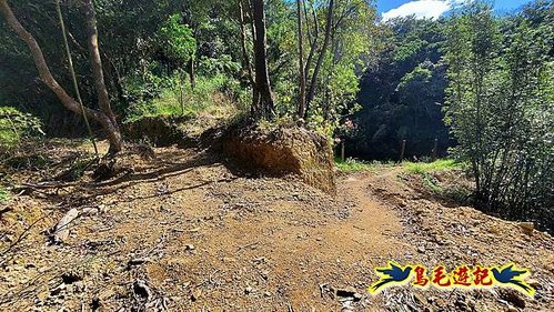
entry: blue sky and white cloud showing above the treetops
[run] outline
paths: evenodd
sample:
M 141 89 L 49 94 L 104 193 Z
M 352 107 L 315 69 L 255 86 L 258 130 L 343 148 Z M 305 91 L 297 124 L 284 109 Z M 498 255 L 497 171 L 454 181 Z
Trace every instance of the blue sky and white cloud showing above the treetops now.
M 410 14 L 437 18 L 453 7 L 467 1 L 471 0 L 377 0 L 377 11 L 384 20 Z M 496 0 L 494 10 L 497 13 L 506 13 L 532 0 Z

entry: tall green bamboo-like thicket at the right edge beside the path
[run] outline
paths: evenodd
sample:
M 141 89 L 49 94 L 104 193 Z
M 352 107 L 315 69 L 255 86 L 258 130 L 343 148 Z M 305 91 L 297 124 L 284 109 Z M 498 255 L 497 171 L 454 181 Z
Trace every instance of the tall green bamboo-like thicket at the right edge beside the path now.
M 480 3 L 449 24 L 446 121 L 460 142 L 454 153 L 471 164 L 483 209 L 552 220 L 554 62 L 548 51 L 554 41 L 526 19 L 515 19 L 504 31 L 503 37 L 498 20 Z

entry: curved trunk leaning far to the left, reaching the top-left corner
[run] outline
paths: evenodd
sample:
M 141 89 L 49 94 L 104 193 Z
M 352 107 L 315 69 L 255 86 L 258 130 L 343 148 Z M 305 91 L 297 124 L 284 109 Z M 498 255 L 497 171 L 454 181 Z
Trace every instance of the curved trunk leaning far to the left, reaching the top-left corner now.
M 18 18 L 16 17 L 16 14 L 13 14 L 13 11 L 11 10 L 7 0 L 0 0 L 0 12 L 4 16 L 8 24 L 13 30 L 13 32 L 16 32 L 16 34 L 29 48 L 34 66 L 37 67 L 37 70 L 39 72 L 39 77 L 44 82 L 44 84 L 50 90 L 52 90 L 52 92 L 58 97 L 60 102 L 68 110 L 77 114 L 82 114 L 84 111 L 88 118 L 100 123 L 108 133 L 108 139 L 110 140 L 110 151 L 111 152 L 120 151 L 122 147 L 121 134 L 119 132 L 118 124 L 114 123 L 115 122 L 114 119 L 111 119 L 103 111 L 98 111 L 90 108 L 84 108 L 83 110 L 81 110 L 81 105 L 79 104 L 79 102 L 75 101 L 71 95 L 69 95 L 68 92 L 53 78 L 52 73 L 50 72 L 50 68 L 48 67 L 48 63 L 44 59 L 44 54 L 40 49 L 39 43 L 34 39 L 34 37 L 29 31 L 27 31 L 23 28 L 23 26 L 19 22 Z

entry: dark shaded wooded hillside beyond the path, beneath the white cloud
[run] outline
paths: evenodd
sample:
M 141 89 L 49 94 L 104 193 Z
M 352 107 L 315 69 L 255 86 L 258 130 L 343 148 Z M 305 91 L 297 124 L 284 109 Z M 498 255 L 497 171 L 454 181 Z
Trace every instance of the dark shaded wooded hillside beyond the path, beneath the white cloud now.
M 440 154 L 446 154 L 453 142 L 442 120 L 446 88 L 440 50 L 443 27 L 441 20 L 409 17 L 373 30 L 357 93 L 363 109 L 353 118 L 359 129 L 346 144 L 347 153 L 397 159 L 401 142 L 406 140 L 406 157 L 421 159 L 431 155 L 439 139 Z

